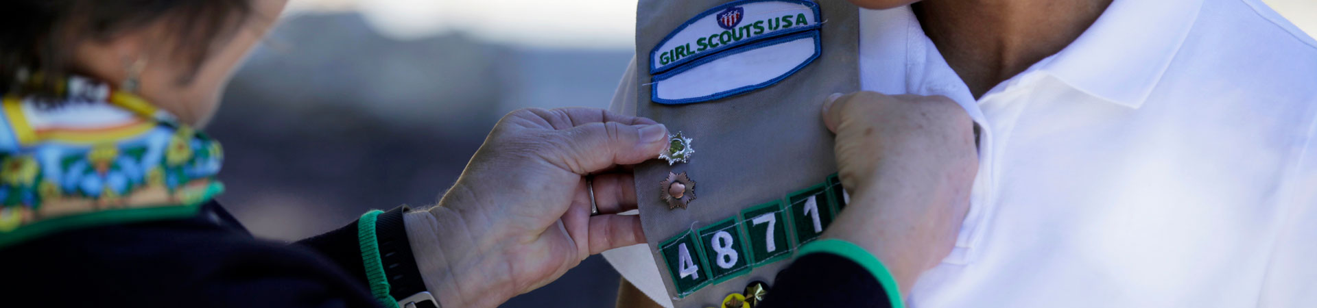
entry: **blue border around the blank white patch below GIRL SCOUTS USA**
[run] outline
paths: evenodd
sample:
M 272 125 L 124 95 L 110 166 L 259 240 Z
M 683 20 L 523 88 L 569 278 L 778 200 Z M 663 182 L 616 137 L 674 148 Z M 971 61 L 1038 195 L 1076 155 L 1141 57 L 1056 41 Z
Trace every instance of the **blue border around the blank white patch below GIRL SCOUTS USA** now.
M 809 59 L 805 59 L 805 62 L 801 62 L 801 64 L 795 66 L 795 68 L 792 68 L 790 71 L 788 71 L 786 74 L 782 74 L 781 76 L 769 79 L 768 82 L 763 82 L 763 83 L 759 83 L 759 84 L 744 86 L 744 87 L 739 87 L 739 88 L 734 88 L 734 90 L 728 90 L 728 91 L 723 91 L 723 92 L 718 92 L 718 93 L 712 93 L 712 95 L 699 96 L 699 97 L 680 99 L 680 100 L 658 99 L 658 82 L 666 80 L 668 78 L 672 78 L 672 76 L 674 76 L 677 74 L 685 72 L 685 71 L 687 71 L 690 68 L 699 67 L 701 64 L 709 63 L 709 62 L 715 61 L 715 59 L 726 58 L 728 55 L 735 55 L 735 54 L 745 53 L 745 51 L 749 51 L 749 50 L 765 47 L 765 46 L 769 46 L 769 45 L 778 45 L 778 43 L 789 42 L 789 41 L 794 41 L 794 39 L 799 39 L 799 38 L 806 38 L 806 37 L 813 37 L 814 38 L 814 55 L 810 55 Z M 664 105 L 682 105 L 682 104 L 693 104 L 693 103 L 702 103 L 702 101 L 710 101 L 710 100 L 723 99 L 723 97 L 735 96 L 735 95 L 751 92 L 751 91 L 755 91 L 755 90 L 765 88 L 768 86 L 773 86 L 773 84 L 781 82 L 782 79 L 786 79 L 788 76 L 795 75 L 795 72 L 799 71 L 801 68 L 805 68 L 805 66 L 809 66 L 810 63 L 814 63 L 814 61 L 818 59 L 819 55 L 823 54 L 822 39 L 823 39 L 823 37 L 819 36 L 819 30 L 815 29 L 813 32 L 797 33 L 797 34 L 790 34 L 790 36 L 781 36 L 781 37 L 776 37 L 776 38 L 770 38 L 770 39 L 761 39 L 761 41 L 757 41 L 757 42 L 751 43 L 751 45 L 738 46 L 735 49 L 724 50 L 724 51 L 720 51 L 720 53 L 716 53 L 716 54 L 711 54 L 709 57 L 699 58 L 699 61 L 697 61 L 694 63 L 689 63 L 689 64 L 685 64 L 682 67 L 677 67 L 674 70 L 670 70 L 670 71 L 660 74 L 660 75 L 655 75 L 653 79 L 649 83 L 649 100 L 653 101 L 653 103 L 657 103 L 657 104 L 664 104 Z

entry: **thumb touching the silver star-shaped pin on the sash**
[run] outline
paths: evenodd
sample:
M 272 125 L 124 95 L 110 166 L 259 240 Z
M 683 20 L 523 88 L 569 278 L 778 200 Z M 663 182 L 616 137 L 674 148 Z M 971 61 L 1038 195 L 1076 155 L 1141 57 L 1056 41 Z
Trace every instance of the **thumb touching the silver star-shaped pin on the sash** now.
M 657 158 L 668 145 L 662 124 L 591 122 L 558 132 L 566 140 L 554 149 L 561 167 L 582 175 Z

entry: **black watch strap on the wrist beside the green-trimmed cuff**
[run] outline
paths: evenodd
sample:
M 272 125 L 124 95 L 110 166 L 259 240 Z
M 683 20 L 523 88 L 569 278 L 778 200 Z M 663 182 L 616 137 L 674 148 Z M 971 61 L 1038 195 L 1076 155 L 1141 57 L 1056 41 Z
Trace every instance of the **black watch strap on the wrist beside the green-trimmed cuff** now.
M 407 241 L 403 213 L 408 211 L 411 209 L 407 205 L 402 205 L 383 212 L 375 218 L 375 240 L 379 242 L 379 261 L 385 267 L 385 276 L 389 279 L 389 295 L 399 301 L 427 292 L 425 282 L 421 280 L 420 269 L 416 266 L 416 257 L 412 254 L 411 242 Z M 399 303 L 399 305 L 402 304 L 406 303 Z M 427 308 L 437 307 L 439 303 L 419 300 L 411 305 Z

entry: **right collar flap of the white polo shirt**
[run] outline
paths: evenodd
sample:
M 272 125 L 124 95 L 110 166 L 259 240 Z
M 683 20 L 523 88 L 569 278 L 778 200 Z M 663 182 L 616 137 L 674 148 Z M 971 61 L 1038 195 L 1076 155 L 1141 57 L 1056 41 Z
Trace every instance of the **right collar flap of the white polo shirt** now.
M 1202 0 L 1115 0 L 1039 71 L 1104 100 L 1139 108 L 1169 67 Z

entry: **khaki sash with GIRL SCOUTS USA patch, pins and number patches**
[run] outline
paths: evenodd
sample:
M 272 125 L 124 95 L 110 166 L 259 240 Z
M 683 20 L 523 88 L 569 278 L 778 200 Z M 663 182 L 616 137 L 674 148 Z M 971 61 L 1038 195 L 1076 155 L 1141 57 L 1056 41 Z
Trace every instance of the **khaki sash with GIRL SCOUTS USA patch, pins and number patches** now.
M 857 32 L 857 9 L 843 0 L 640 0 L 636 115 L 694 150 L 687 162 L 635 170 L 645 237 L 676 307 L 719 307 L 752 282 L 772 283 L 840 212 L 820 109 L 828 95 L 859 90 Z M 685 208 L 664 199 L 669 172 L 689 178 Z

